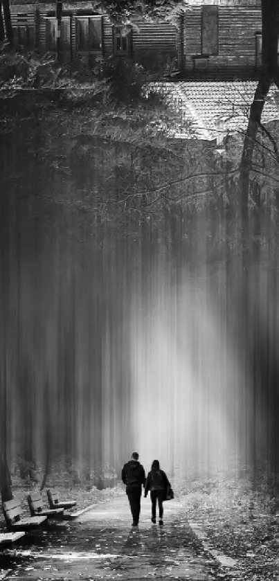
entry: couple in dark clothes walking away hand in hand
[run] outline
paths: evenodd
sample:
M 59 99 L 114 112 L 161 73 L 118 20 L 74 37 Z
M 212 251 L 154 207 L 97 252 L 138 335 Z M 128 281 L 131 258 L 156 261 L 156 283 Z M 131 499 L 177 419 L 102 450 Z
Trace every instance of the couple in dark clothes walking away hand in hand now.
M 126 485 L 126 494 L 131 507 L 133 524 L 138 526 L 139 515 L 141 512 L 141 490 L 142 485 L 145 488 L 145 498 L 148 490 L 152 502 L 152 523 L 156 523 L 156 503 L 159 505 L 159 524 L 163 524 L 163 501 L 165 500 L 167 490 L 171 488 L 168 477 L 160 470 L 158 460 L 152 462 L 150 472 L 145 479 L 145 470 L 143 465 L 138 462 L 138 453 L 133 452 L 131 460 L 127 462 L 122 469 L 122 480 Z

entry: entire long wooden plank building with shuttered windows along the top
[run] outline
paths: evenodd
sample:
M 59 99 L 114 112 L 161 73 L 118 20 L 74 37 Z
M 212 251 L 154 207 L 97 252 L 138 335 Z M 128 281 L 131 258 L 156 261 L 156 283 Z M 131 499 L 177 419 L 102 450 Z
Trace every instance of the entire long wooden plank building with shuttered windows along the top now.
M 11 0 L 15 46 L 56 50 L 55 2 Z M 255 73 L 261 64 L 260 0 L 188 0 L 174 24 L 137 19 L 116 26 L 90 1 L 64 1 L 62 57 L 90 64 L 96 55 L 129 57 L 185 77 Z

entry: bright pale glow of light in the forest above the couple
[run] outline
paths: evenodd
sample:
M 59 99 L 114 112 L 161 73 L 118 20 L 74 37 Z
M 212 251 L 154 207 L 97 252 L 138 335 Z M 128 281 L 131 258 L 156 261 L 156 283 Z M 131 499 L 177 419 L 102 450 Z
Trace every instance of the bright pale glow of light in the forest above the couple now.
M 200 283 L 172 285 L 163 271 L 134 298 L 129 357 L 134 443 L 175 476 L 227 470 L 246 459 L 249 384 L 213 298 Z M 245 419 L 244 419 L 245 418 Z M 246 422 L 243 429 L 243 422 Z

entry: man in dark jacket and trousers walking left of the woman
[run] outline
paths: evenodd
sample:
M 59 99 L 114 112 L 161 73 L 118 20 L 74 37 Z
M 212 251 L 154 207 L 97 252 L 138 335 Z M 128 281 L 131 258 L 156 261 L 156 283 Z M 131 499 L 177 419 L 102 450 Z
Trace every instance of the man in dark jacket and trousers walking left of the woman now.
M 141 487 L 145 485 L 145 471 L 138 462 L 138 452 L 133 452 L 131 460 L 123 466 L 121 477 L 126 485 L 126 494 L 131 507 L 132 526 L 138 526 L 141 512 Z

